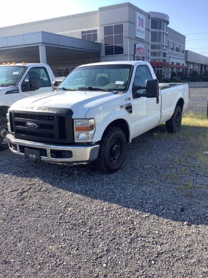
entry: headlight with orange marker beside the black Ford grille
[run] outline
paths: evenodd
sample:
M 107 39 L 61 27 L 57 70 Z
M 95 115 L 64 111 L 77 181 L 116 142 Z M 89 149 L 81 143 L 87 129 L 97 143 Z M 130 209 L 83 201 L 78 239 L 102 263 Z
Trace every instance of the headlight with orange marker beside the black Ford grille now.
M 91 142 L 95 131 L 94 119 L 74 120 L 75 142 Z

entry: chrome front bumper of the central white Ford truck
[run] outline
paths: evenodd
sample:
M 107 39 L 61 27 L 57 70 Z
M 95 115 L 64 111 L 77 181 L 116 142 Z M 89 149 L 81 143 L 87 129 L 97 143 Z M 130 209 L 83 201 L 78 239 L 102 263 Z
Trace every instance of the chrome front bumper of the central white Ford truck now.
M 43 144 L 20 140 L 12 134 L 7 134 L 7 141 L 10 150 L 15 154 L 31 160 L 58 164 L 86 164 L 95 160 L 99 151 L 98 144 L 74 146 Z

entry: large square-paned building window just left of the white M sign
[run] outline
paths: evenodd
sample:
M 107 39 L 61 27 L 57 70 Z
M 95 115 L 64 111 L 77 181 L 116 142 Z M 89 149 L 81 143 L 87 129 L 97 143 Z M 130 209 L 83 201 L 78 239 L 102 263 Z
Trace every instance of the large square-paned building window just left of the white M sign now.
M 119 55 L 124 53 L 124 26 L 116 24 L 104 27 L 105 54 Z

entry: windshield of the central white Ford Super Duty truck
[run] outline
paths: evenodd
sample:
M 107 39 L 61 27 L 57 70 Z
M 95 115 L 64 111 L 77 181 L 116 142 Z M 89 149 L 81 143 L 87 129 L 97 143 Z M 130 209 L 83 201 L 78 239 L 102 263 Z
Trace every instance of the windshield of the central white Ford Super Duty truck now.
M 132 65 L 96 65 L 73 70 L 58 89 L 126 90 Z

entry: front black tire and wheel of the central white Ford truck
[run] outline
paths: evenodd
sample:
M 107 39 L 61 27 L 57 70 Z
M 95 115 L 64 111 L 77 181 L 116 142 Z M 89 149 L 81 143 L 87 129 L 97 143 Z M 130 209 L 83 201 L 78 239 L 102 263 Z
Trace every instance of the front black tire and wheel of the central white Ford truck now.
M 99 142 L 96 169 L 109 174 L 118 171 L 125 159 L 126 145 L 126 137 L 121 128 L 107 127 Z

